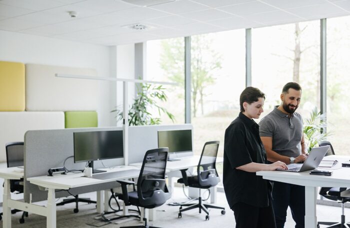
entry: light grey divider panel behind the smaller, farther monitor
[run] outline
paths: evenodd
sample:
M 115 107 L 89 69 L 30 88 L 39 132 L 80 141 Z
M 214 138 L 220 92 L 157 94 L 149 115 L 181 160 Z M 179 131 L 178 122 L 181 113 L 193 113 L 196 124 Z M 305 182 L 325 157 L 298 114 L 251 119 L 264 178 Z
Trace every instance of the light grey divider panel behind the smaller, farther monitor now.
M 147 150 L 158 148 L 159 130 L 192 130 L 193 149 L 193 126 L 191 124 L 180 125 L 146 125 L 129 127 L 129 164 L 142 162 Z M 177 156 L 190 156 L 193 152 L 178 153 Z M 169 154 L 172 157 L 172 154 Z

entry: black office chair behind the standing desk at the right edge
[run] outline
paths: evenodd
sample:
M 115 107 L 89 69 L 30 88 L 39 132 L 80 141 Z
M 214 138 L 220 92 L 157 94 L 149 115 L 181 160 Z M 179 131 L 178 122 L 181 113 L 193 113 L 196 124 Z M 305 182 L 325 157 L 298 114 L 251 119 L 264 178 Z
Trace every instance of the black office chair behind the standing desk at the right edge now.
M 319 142 L 319 146 L 330 146 L 330 151 L 327 151 L 326 156 L 335 154 L 330 142 L 328 141 Z M 350 198 L 340 196 L 341 192 L 345 190 L 346 190 L 346 187 L 321 187 L 321 189 L 319 190 L 320 195 L 322 195 L 327 199 L 338 201 L 341 203 L 341 217 L 340 217 L 340 222 L 319 221 L 317 222 L 317 227 L 319 227 L 319 225 L 330 225 L 329 227 L 347 227 L 347 228 L 350 227 L 350 223 L 345 222 L 345 215 L 344 215 L 344 203 L 347 201 L 350 201 Z

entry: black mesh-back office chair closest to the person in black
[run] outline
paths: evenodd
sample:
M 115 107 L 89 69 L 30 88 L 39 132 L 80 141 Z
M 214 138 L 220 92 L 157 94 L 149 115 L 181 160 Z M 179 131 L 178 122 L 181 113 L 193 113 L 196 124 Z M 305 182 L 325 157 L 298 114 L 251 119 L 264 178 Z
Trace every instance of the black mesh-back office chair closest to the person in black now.
M 200 196 L 200 189 L 210 188 L 215 186 L 220 178 L 217 175 L 215 162 L 218 149 L 219 141 L 206 142 L 204 144 L 203 150 L 200 155 L 199 163 L 197 165 L 197 175 L 188 176 L 186 174 L 186 169 L 181 170 L 182 178 L 178 179 L 178 183 L 183 183 L 185 186 L 199 188 L 199 198 L 198 203 L 182 203 L 180 205 L 178 217 L 182 217 L 183 211 L 199 208 L 199 213 L 203 210 L 205 215 L 205 220 L 209 220 L 209 211 L 207 208 L 221 209 L 221 214 L 225 214 L 225 208 L 220 206 L 215 206 L 211 204 L 204 204 Z M 182 206 L 188 206 L 182 208 Z

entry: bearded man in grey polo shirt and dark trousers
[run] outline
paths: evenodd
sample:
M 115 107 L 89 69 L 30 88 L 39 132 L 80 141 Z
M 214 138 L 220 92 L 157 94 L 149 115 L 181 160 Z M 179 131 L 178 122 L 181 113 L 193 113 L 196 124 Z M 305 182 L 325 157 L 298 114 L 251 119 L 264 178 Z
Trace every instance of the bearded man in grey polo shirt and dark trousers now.
M 259 133 L 265 147 L 267 160 L 286 164 L 306 159 L 302 118 L 295 110 L 301 100 L 301 87 L 294 82 L 284 85 L 280 95 L 282 103 L 261 119 Z M 304 227 L 305 190 L 303 186 L 273 182 L 272 205 L 277 228 L 283 227 L 286 211 L 290 207 L 295 228 Z

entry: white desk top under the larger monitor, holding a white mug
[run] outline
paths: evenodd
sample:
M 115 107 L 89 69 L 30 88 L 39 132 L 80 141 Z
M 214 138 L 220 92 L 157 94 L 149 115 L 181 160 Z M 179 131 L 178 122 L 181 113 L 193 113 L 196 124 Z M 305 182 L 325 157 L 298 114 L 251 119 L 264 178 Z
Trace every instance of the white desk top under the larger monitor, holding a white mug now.
M 117 171 L 128 170 L 128 169 L 138 169 L 138 168 L 133 166 L 120 166 L 112 169 L 105 168 L 102 170 L 106 170 L 107 172 L 117 172 Z M 127 173 L 125 173 L 125 176 L 123 177 L 100 180 L 100 179 L 84 177 L 83 174 L 79 172 L 79 173 L 67 173 L 65 175 L 59 174 L 54 176 L 29 177 L 27 178 L 27 180 L 32 184 L 36 184 L 38 186 L 42 186 L 46 188 L 69 189 L 73 187 L 105 183 L 105 182 L 110 182 L 117 179 L 119 180 L 127 179 L 127 178 L 132 178 L 137 176 L 134 176 L 134 175 L 130 176 Z

